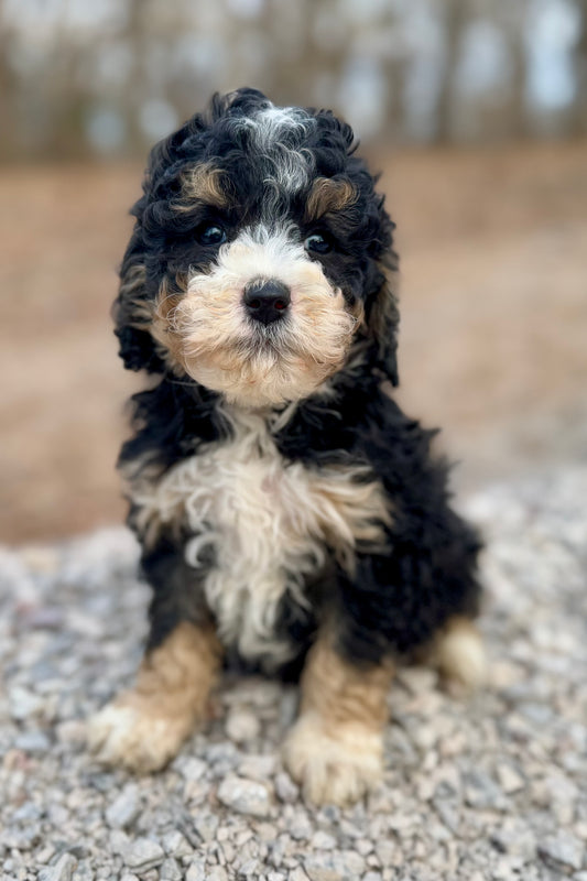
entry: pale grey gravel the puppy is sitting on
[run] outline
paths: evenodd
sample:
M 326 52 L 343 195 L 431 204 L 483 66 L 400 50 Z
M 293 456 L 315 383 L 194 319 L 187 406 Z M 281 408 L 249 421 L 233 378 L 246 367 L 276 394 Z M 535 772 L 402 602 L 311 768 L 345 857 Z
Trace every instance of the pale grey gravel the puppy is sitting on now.
M 161 774 L 96 765 L 84 719 L 140 660 L 146 590 L 123 530 L 0 554 L 0 879 L 587 881 L 587 475 L 490 487 L 488 688 L 427 670 L 390 694 L 367 804 L 307 807 L 278 758 L 296 694 L 228 681 Z M 1 873 L 3 872 L 3 874 Z

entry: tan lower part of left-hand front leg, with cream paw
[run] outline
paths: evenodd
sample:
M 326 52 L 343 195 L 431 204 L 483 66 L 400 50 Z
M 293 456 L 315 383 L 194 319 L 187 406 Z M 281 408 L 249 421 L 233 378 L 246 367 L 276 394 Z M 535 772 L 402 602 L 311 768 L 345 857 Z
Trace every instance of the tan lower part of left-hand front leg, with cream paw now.
M 210 627 L 178 624 L 145 655 L 134 687 L 90 720 L 90 749 L 100 761 L 132 771 L 163 768 L 205 718 L 220 660 Z

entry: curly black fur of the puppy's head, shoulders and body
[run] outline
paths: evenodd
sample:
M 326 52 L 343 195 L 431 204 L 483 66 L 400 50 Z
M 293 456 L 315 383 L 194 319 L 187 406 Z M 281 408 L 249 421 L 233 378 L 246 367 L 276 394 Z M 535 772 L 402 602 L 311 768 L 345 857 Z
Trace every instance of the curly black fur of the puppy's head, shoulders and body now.
M 202 445 L 221 444 L 230 436 L 221 396 L 170 369 L 142 307 L 155 298 L 162 282 L 178 291 L 178 280 L 188 271 L 206 272 L 214 261 L 214 250 L 198 243 L 194 233 L 215 221 L 218 210 L 197 203 L 189 210 L 177 209 L 187 170 L 214 160 L 226 176 L 230 199 L 221 220 L 229 236 L 262 214 L 268 161 L 252 154 L 247 128 L 236 121 L 267 106 L 268 99 L 253 89 L 216 96 L 204 113 L 151 153 L 143 196 L 132 209 L 137 222 L 113 313 L 126 367 L 159 374 L 154 388 L 133 399 L 135 434 L 120 456 L 127 474 L 149 466 L 163 475 L 197 455 Z M 330 393 L 301 401 L 275 432 L 274 443 L 285 467 L 296 461 L 318 469 L 369 465 L 384 487 L 393 522 L 387 527 L 383 552 L 359 543 L 354 577 L 329 550 L 326 569 L 306 585 L 309 610 L 286 595 L 275 630 L 296 646 L 300 661 L 319 622 L 334 614 L 345 656 L 373 663 L 427 642 L 455 613 L 475 614 L 479 541 L 449 508 L 447 467 L 431 456 L 434 433 L 407 418 L 384 388 L 385 381 L 398 381 L 398 312 L 385 282 L 385 270 L 396 265 L 393 224 L 374 192 L 374 178 L 355 155 L 351 129 L 328 111 L 308 113 L 315 126 L 303 148 L 313 156 L 315 175 L 347 180 L 357 194 L 352 205 L 320 224 L 337 247 L 316 259 L 349 304 L 363 304 L 366 319 L 354 360 L 333 378 Z M 313 231 L 304 219 L 306 198 L 304 191 L 280 193 L 273 206 L 302 236 Z M 131 525 L 138 522 L 135 515 L 133 509 Z M 183 557 L 185 537 L 165 533 L 143 555 L 144 574 L 155 591 L 151 648 L 182 618 L 197 621 L 208 614 L 203 572 L 196 578 Z M 206 565 L 214 566 L 214 559 Z

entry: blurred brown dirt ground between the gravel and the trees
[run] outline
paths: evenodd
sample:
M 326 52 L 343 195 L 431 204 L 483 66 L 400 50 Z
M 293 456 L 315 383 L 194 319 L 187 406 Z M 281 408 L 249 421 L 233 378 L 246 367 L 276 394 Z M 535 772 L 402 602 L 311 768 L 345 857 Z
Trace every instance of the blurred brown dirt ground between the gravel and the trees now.
M 402 257 L 400 398 L 459 489 L 587 460 L 587 143 L 373 153 Z M 137 377 L 109 307 L 137 164 L 0 168 L 0 540 L 120 521 Z

